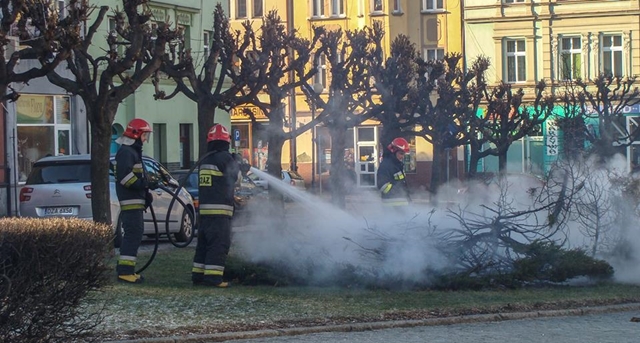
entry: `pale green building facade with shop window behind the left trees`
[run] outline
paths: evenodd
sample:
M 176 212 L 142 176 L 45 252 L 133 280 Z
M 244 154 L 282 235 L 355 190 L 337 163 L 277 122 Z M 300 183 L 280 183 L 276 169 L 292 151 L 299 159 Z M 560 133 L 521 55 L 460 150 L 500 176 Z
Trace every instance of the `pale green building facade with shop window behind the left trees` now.
M 64 15 L 63 3 L 58 1 L 59 10 Z M 120 0 L 105 0 L 94 5 L 107 5 L 112 9 L 122 8 Z M 152 14 L 151 25 L 156 21 L 168 21 L 184 30 L 187 46 L 192 49 L 196 63 L 203 56 L 211 42 L 213 12 L 217 2 L 200 0 L 152 1 L 148 9 Z M 228 2 L 223 2 L 228 10 Z M 88 22 L 93 23 L 98 11 Z M 104 55 L 108 50 L 106 37 L 114 34 L 113 12 L 107 12 L 93 38 L 90 53 Z M 19 48 L 19 42 L 16 46 Z M 33 61 L 20 61 L 19 70 L 27 70 Z M 59 72 L 73 76 L 60 66 Z M 116 80 L 114 80 L 116 81 Z M 13 85 L 20 93 L 17 102 L 4 104 L 2 143 L 0 150 L 0 216 L 19 215 L 19 190 L 31 170 L 33 162 L 47 155 L 67 155 L 88 153 L 90 147 L 89 125 L 82 100 L 69 95 L 65 90 L 53 86 L 46 78 L 32 80 L 28 84 Z M 171 91 L 175 85 L 161 81 L 161 88 Z M 147 80 L 136 92 L 125 99 L 118 108 L 113 124 L 113 140 L 124 132 L 133 118 L 147 120 L 154 129 L 150 143 L 144 153 L 165 164 L 169 169 L 188 168 L 199 156 L 197 137 L 197 106 L 186 96 L 179 94 L 171 100 L 154 100 L 154 85 Z M 230 126 L 229 114 L 216 112 L 216 121 Z M 112 152 L 117 150 L 115 142 Z

